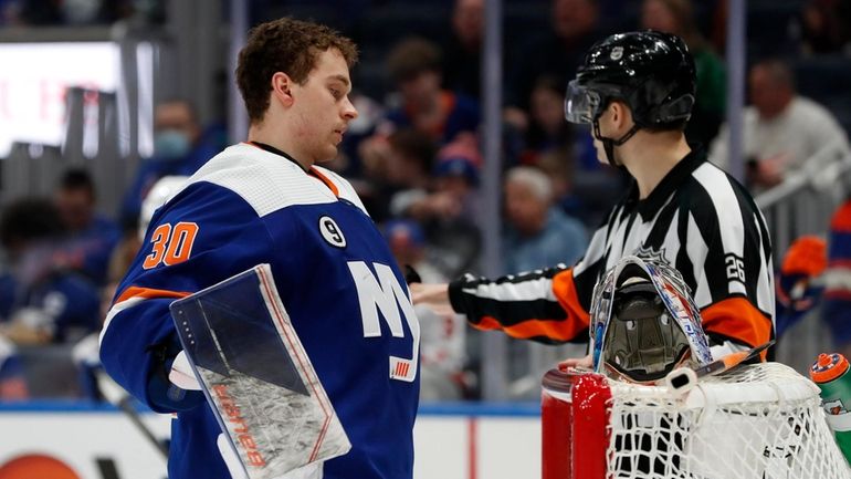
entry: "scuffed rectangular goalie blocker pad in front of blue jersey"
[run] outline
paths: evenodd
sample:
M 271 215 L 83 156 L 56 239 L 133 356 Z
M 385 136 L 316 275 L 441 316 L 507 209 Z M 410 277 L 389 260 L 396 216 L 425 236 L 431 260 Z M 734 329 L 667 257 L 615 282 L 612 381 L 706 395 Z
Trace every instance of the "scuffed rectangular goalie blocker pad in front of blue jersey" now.
M 272 279 L 260 264 L 170 305 L 180 342 L 250 479 L 351 448 Z

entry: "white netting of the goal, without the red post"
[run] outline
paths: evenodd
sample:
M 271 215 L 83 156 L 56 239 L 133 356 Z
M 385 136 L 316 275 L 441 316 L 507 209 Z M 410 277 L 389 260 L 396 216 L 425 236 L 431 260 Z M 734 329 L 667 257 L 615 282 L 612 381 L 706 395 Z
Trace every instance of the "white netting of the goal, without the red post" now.
M 609 478 L 851 478 L 818 387 L 782 364 L 743 366 L 683 396 L 610 387 Z

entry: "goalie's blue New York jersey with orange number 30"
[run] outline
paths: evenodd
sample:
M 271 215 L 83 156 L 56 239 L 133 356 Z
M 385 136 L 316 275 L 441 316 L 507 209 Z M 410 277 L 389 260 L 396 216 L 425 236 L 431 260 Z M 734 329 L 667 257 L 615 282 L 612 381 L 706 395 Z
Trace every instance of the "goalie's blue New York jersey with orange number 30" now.
M 169 477 L 230 473 L 202 396 L 170 394 L 180 344 L 168 306 L 260 263 L 271 265 L 351 441 L 321 477 L 410 478 L 419 323 L 403 275 L 346 180 L 248 143 L 217 155 L 157 210 L 101 335 L 107 373 L 151 409 L 177 413 Z

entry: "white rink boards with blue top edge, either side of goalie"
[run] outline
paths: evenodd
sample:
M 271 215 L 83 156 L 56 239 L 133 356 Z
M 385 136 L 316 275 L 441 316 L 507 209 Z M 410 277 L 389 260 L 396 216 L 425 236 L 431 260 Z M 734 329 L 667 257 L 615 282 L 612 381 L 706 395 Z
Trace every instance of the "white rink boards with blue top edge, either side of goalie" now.
M 171 417 L 143 413 L 169 436 Z M 166 478 L 162 455 L 122 412 L 83 403 L 0 405 L 0 479 Z M 423 404 L 414 428 L 416 479 L 540 477 L 539 405 Z

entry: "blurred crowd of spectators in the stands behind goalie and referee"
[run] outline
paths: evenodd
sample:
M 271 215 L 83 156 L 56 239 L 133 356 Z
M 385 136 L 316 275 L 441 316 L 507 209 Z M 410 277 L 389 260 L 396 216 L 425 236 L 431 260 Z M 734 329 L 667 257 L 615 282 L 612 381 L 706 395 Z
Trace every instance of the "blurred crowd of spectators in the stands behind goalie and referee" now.
M 744 180 L 758 192 L 805 168 L 826 145 L 848 147 L 851 100 L 847 90 L 826 88 L 819 80 L 851 79 L 851 1 L 749 3 Z M 359 44 L 363 61 L 353 70 L 353 102 L 360 116 L 330 167 L 358 188 L 400 264 L 413 265 L 427 282 L 480 272 L 485 0 L 250 4 L 255 21 L 309 15 L 339 28 Z M 726 4 L 721 0 L 505 2 L 500 158 L 504 273 L 576 261 L 589 232 L 626 189 L 627 176 L 597 159 L 591 132 L 564 119 L 567 80 L 584 52 L 609 33 L 652 28 L 686 41 L 697 69 L 697 103 L 686 136 L 694 147 L 707 148 L 718 166 L 728 166 Z M 155 0 L 0 0 L 2 25 L 139 18 L 157 23 L 167 21 L 165 13 L 164 2 Z M 369 15 L 366 28 L 358 20 Z M 823 76 L 811 76 L 816 69 Z M 99 331 L 104 304 L 112 301 L 114 283 L 140 247 L 140 232 L 153 209 L 168 197 L 169 185 L 179 185 L 228 143 L 221 132 L 199 124 L 193 105 L 186 101 L 162 102 L 155 116 L 155 153 L 141 162 L 114 217 L 95 211 L 96 187 L 81 169 L 65 171 L 53 197 L 14 200 L 0 214 L 0 398 L 40 394 L 25 374 L 35 367 L 31 363 L 36 355 L 43 357 L 33 353 L 44 351 L 34 350 L 40 345 L 65 348 L 75 357 L 92 356 L 74 348 L 85 337 L 91 344 Z M 158 181 L 160 190 L 151 194 Z M 479 397 L 474 333 L 458 315 L 431 317 L 430 311 L 418 312 L 423 316 L 423 398 Z M 74 377 L 81 372 L 67 371 Z M 91 381 L 61 384 L 44 394 L 97 395 Z

